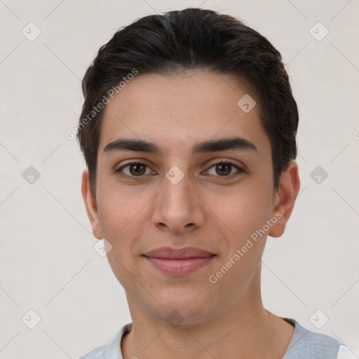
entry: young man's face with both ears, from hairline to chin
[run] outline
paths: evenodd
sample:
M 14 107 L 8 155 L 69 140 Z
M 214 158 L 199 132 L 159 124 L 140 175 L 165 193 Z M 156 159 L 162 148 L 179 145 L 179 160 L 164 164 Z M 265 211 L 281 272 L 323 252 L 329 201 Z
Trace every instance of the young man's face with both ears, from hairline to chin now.
M 199 323 L 259 291 L 266 236 L 283 233 L 299 181 L 293 162 L 273 188 L 246 94 L 211 72 L 139 74 L 107 104 L 95 198 L 87 171 L 83 196 L 131 312 Z

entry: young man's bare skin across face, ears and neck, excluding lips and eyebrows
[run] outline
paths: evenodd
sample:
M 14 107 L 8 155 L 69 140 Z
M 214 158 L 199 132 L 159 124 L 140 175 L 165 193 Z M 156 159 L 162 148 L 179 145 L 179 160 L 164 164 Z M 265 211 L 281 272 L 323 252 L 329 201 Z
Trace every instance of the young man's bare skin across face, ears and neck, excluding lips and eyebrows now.
M 133 329 L 124 337 L 124 359 L 281 358 L 294 327 L 262 305 L 261 257 L 266 236 L 281 236 L 299 191 L 291 161 L 273 187 L 271 145 L 255 106 L 238 107 L 248 90 L 231 76 L 191 72 L 141 75 L 107 104 L 97 156 L 95 194 L 88 171 L 82 194 L 96 238 L 111 243 L 107 257 L 126 290 Z M 197 142 L 242 137 L 257 150 L 229 149 L 193 155 Z M 104 151 L 118 138 L 154 142 L 161 154 Z M 148 166 L 137 175 L 126 161 Z M 221 172 L 219 161 L 234 163 Z M 172 184 L 165 174 L 184 174 Z M 130 171 L 131 170 L 131 171 Z M 222 180 L 221 180 L 222 179 Z M 217 273 L 250 235 L 276 213 L 281 217 L 217 283 Z M 154 248 L 194 246 L 216 256 L 184 276 L 158 271 L 142 255 Z M 176 310 L 182 323 L 167 316 Z

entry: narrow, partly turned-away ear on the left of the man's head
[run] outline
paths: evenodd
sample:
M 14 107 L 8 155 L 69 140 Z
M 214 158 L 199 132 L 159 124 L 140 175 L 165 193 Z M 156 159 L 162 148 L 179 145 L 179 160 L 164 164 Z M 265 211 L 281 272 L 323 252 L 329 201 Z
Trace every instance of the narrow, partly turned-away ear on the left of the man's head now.
M 82 174 L 81 193 L 83 201 L 85 202 L 88 219 L 90 219 L 91 226 L 93 227 L 93 235 L 95 236 L 95 238 L 101 239 L 103 236 L 97 210 L 97 203 L 96 198 L 90 189 L 90 178 L 88 176 L 87 168 L 83 171 Z

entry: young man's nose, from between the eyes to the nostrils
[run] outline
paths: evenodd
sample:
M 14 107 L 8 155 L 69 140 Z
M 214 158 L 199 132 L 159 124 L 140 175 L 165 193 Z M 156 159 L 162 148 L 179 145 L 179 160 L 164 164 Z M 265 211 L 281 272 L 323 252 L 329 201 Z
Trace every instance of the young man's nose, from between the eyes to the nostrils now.
M 163 177 L 163 189 L 156 196 L 152 222 L 161 231 L 172 235 L 187 234 L 203 226 L 203 207 L 188 175 L 184 175 L 179 182 Z

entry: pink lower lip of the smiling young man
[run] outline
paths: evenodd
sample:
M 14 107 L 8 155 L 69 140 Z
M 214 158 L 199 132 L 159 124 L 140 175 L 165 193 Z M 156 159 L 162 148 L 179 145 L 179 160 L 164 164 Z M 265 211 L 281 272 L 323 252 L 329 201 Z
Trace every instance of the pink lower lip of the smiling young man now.
M 210 262 L 214 256 L 197 257 L 188 259 L 161 259 L 145 257 L 157 269 L 172 276 L 182 276 L 202 268 Z

